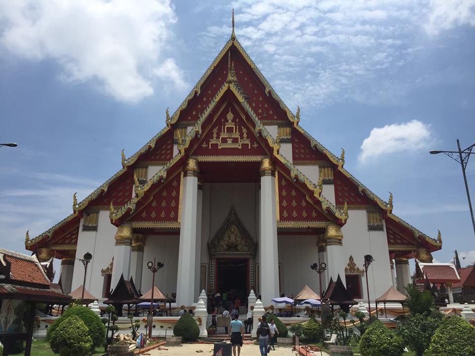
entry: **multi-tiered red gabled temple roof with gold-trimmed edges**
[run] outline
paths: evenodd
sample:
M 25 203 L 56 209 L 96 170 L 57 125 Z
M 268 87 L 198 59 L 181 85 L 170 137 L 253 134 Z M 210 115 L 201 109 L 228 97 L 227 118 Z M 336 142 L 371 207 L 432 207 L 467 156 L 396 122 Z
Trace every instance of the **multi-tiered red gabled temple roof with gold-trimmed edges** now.
M 219 127 L 216 126 L 219 123 L 215 121 L 222 110 L 229 110 L 233 117 L 241 120 L 240 123 L 246 130 L 246 133 L 242 133 L 243 136 L 252 140 L 252 144 L 249 141 L 248 145 L 243 146 L 248 147 L 248 151 L 231 150 L 229 152 L 233 152 L 232 157 L 226 158 L 222 152 L 212 150 L 212 139 L 216 138 L 213 130 Z M 179 194 L 179 173 L 187 157 L 198 155 L 200 162 L 206 162 L 207 157 L 219 156 L 223 162 L 228 159 L 252 163 L 265 155 L 272 157 L 277 164 L 278 181 L 282 185 L 295 186 L 292 193 L 295 192 L 296 197 L 301 196 L 299 203 L 301 200 L 301 206 L 304 207 L 289 209 L 288 213 L 284 210 L 285 214 L 281 211 L 279 220 L 300 227 L 322 226 L 329 222 L 342 225 L 347 220 L 348 209 L 371 206 L 382 211 L 388 234 L 391 234 L 391 243 L 402 246 L 401 251 L 404 248 L 411 250 L 415 246 L 426 247 L 429 251 L 441 248 L 440 235 L 437 240 L 432 239 L 392 214 L 392 195 L 388 202 L 380 199 L 343 168 L 344 150 L 339 157 L 335 156 L 302 129 L 299 120 L 299 109 L 294 115 L 287 108 L 236 39 L 233 25 L 231 38 L 178 109 L 172 115 L 166 110 L 166 127 L 128 159 L 122 152 L 122 169 L 119 172 L 80 203 L 74 197 L 73 213 L 34 239 L 30 240 L 27 235 L 25 246 L 32 251 L 49 246 L 56 251 L 57 257 L 69 256 L 75 250 L 79 222 L 84 212 L 91 209 L 104 210 L 105 207 L 110 209 L 110 220 L 115 225 L 132 221 L 136 226 L 154 223 L 156 227 L 179 227 L 179 198 L 175 196 Z M 310 181 L 280 154 L 279 140 L 266 129 L 269 125 L 290 128 L 294 137 L 292 152 L 295 164 L 323 162 L 333 167 L 336 206 L 322 195 L 322 181 Z M 180 132 L 177 129 L 186 127 L 191 127 L 188 134 L 186 131 L 183 131 L 183 135 L 176 134 Z M 178 142 L 178 153 L 175 155 L 174 140 Z M 209 156 L 205 155 L 206 149 Z M 133 173 L 134 167 L 138 165 L 161 168 L 141 184 L 138 179 L 134 179 Z M 130 199 L 133 187 L 136 196 Z M 348 191 L 351 196 L 345 195 Z M 151 211 L 150 205 L 155 207 L 159 203 L 160 194 L 167 197 L 160 198 L 167 208 L 162 209 L 161 214 L 156 214 Z M 306 201 L 311 204 L 309 208 L 305 207 Z M 281 226 L 285 226 L 285 223 Z

